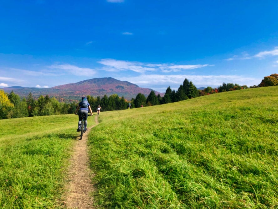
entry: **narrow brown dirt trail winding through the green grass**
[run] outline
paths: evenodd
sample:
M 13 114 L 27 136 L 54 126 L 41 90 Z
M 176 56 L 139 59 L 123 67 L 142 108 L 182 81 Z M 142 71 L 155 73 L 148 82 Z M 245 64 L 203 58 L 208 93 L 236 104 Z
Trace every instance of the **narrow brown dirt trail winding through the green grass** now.
M 90 196 L 90 193 L 95 188 L 91 182 L 92 175 L 89 168 L 87 140 L 90 130 L 98 125 L 97 118 L 95 116 L 95 125 L 88 128 L 88 131 L 83 134 L 82 140 L 80 140 L 80 136 L 76 140 L 74 153 L 70 159 L 69 183 L 65 186 L 64 208 L 95 208 L 93 206 L 93 197 Z M 90 121 L 88 121 L 88 125 L 89 123 Z

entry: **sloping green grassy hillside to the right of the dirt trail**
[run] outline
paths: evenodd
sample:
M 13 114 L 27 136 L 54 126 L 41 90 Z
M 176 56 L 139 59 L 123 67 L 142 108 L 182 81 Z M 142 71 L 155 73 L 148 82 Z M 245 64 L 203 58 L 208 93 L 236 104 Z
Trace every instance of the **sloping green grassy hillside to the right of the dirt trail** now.
M 101 112 L 90 133 L 97 204 L 277 208 L 278 87 Z

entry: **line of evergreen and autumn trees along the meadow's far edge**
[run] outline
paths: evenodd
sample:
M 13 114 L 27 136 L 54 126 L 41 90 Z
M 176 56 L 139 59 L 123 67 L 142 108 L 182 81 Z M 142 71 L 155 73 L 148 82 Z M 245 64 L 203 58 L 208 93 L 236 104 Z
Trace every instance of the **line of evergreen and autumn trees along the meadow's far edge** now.
M 266 76 L 258 86 L 250 86 L 250 88 L 276 85 L 278 85 L 278 74 L 271 74 L 270 76 Z M 109 97 L 105 94 L 102 98 L 100 96 L 93 97 L 88 95 L 87 100 L 93 112 L 96 112 L 98 105 L 102 107 L 102 111 L 111 111 L 124 110 L 127 108 L 128 103 L 131 103 L 132 108 L 139 108 L 245 88 L 248 87 L 246 85 L 240 86 L 236 83 L 223 83 L 218 88 L 208 86 L 207 88 L 198 90 L 192 81 L 185 78 L 183 84 L 179 86 L 177 91 L 172 90 L 169 86 L 163 97 L 151 91 L 147 97 L 139 93 L 136 95 L 136 98 L 132 98 L 130 101 L 126 100 L 123 96 L 119 97 L 117 94 L 110 95 Z M 32 93 L 29 93 L 27 98 L 21 99 L 13 91 L 6 94 L 4 90 L 0 90 L 0 119 L 73 114 L 78 104 L 79 102 L 59 102 L 55 97 L 50 98 L 48 95 L 40 95 L 38 99 L 34 99 Z

